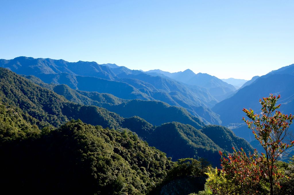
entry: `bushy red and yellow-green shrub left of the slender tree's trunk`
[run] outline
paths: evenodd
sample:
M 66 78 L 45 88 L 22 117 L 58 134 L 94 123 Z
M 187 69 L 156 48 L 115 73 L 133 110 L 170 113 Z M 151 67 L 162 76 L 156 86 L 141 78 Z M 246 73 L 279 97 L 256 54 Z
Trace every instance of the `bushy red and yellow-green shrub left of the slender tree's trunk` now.
M 213 194 L 245 195 L 265 191 L 264 166 L 260 164 L 263 157 L 259 157 L 256 150 L 248 156 L 243 148 L 241 151 L 233 150 L 228 156 L 219 152 L 222 169 L 206 173 L 209 176 L 206 185 Z

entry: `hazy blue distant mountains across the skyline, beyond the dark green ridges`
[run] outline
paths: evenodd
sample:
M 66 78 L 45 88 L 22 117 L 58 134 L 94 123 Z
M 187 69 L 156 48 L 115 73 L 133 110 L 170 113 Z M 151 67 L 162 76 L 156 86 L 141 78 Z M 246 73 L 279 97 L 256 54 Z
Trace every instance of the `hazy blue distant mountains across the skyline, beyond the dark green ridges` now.
M 282 98 L 286 93 L 282 105 L 290 105 L 293 95 L 292 86 L 288 86 L 293 76 L 292 65 L 261 77 L 255 76 L 247 82 L 232 78 L 225 80 L 233 85 L 239 83 L 238 87 L 243 83 L 238 90 L 221 79 L 203 73 L 195 74 L 189 69 L 176 73 L 159 69 L 142 72 L 116 64 L 99 65 L 96 62 L 67 62 L 31 57 L 1 59 L 0 66 L 24 76 L 34 75 L 36 78 L 30 76 L 32 81 L 43 86 L 51 84 L 49 88 L 52 90 L 55 88 L 54 91 L 76 103 L 84 101 L 85 105 L 104 107 L 123 117 L 137 115 L 153 125 L 172 122 L 174 119 L 170 116 L 180 111 L 185 113 L 183 115 L 189 118 L 188 121 L 195 121 L 193 117 L 197 117 L 197 123 L 222 124 L 248 141 L 253 140 L 251 133 L 238 130 L 245 128 L 240 122 L 243 117 L 243 107 L 256 110 L 258 100 L 269 93 L 281 93 Z M 285 77 L 281 76 L 282 74 L 285 74 Z M 277 79 L 279 82 L 274 82 Z M 280 87 L 281 82 L 287 84 Z M 256 87 L 260 85 L 264 87 Z M 95 98 L 98 98 L 98 101 Z M 108 103 L 105 98 L 112 102 Z M 149 106 L 158 111 L 166 110 L 164 113 L 168 113 L 167 110 L 171 111 L 171 109 L 173 112 L 170 115 L 160 115 L 160 112 L 156 112 L 155 117 L 152 117 L 154 113 L 151 111 L 140 112 L 142 108 Z M 170 120 L 154 120 L 164 118 L 159 116 L 166 116 L 165 118 Z

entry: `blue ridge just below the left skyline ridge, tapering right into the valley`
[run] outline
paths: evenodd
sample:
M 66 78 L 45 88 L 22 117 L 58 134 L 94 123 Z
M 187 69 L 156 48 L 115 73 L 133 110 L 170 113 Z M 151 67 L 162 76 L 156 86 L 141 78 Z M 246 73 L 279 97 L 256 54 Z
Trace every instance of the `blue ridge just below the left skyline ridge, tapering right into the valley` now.
M 207 107 L 206 104 L 208 103 L 204 104 L 201 102 L 202 99 L 210 100 L 210 102 L 216 101 L 213 97 L 206 96 L 206 94 L 199 88 L 187 88 L 183 85 L 175 86 L 174 82 L 165 83 L 168 81 L 167 79 L 161 82 L 161 84 L 163 84 L 162 86 L 166 86 L 166 90 L 168 90 L 169 93 L 165 92 L 165 90 L 158 90 L 151 83 L 140 80 L 140 75 L 137 75 L 140 79 L 121 78 L 116 81 L 96 77 L 74 76 L 68 73 L 40 74 L 39 76 L 45 83 L 53 83 L 55 85 L 66 84 L 73 89 L 109 93 L 123 99 L 160 100 L 167 102 L 170 105 L 187 108 L 191 114 L 198 117 L 201 117 L 201 115 L 205 116 L 205 113 L 199 111 L 199 113 L 196 112 L 194 106 Z M 151 81 L 152 80 L 153 78 L 151 78 Z M 89 83 L 95 83 L 95 85 Z M 176 91 L 171 91 L 169 89 L 171 86 L 173 86 L 173 89 L 171 90 Z M 211 112 L 206 120 L 208 122 L 217 122 L 217 124 L 219 124 L 218 116 L 213 114 L 211 110 L 206 110 L 207 112 Z

